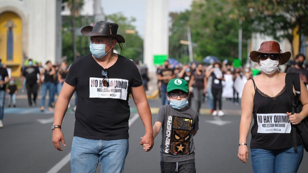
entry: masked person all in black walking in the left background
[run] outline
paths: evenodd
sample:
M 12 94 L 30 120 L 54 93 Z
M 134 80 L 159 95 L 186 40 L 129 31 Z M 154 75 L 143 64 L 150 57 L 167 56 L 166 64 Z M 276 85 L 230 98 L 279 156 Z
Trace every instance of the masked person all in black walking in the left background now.
M 28 60 L 28 67 L 25 68 L 25 70 L 22 73 L 21 83 L 23 83 L 24 80 L 26 80 L 26 89 L 27 89 L 27 95 L 28 95 L 28 105 L 32 106 L 32 100 L 34 105 L 36 105 L 36 97 L 38 93 L 38 83 L 40 80 L 38 80 L 38 75 L 40 74 L 39 68 L 33 66 L 32 59 Z M 33 98 L 32 98 L 33 95 Z

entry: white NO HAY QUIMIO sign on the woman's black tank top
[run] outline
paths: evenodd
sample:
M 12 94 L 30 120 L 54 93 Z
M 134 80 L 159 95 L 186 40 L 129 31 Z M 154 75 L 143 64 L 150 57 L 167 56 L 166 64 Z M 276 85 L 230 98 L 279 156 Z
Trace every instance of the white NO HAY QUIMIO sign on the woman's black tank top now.
M 257 113 L 258 133 L 290 133 L 291 123 L 286 113 Z

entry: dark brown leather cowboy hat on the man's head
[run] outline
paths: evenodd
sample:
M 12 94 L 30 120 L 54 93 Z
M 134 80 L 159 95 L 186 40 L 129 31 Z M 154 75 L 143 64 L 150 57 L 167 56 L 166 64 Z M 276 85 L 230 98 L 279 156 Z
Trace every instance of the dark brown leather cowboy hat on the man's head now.
M 81 34 L 89 36 L 108 36 L 113 37 L 118 43 L 124 43 L 125 39 L 122 35 L 117 34 L 119 25 L 107 21 L 98 21 L 95 26 L 85 26 L 81 29 Z

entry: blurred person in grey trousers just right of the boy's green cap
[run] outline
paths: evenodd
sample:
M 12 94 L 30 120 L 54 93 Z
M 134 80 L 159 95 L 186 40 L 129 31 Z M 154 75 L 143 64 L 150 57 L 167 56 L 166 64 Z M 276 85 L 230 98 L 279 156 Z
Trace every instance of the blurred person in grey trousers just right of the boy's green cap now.
M 196 70 L 192 73 L 189 80 L 189 88 L 193 92 L 192 108 L 199 113 L 201 108 L 201 99 L 206 93 L 206 76 L 203 70 L 203 65 L 198 64 Z

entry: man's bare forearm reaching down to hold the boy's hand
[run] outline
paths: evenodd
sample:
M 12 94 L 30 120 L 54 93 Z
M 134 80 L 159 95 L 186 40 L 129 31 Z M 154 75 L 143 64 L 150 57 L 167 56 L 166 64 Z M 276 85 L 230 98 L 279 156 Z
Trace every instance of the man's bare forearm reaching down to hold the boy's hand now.
M 148 104 L 148 101 L 145 100 L 143 102 L 140 102 L 136 104 L 139 116 L 143 122 L 145 133 L 147 134 L 153 134 L 153 128 L 152 128 L 152 114 L 151 110 Z

